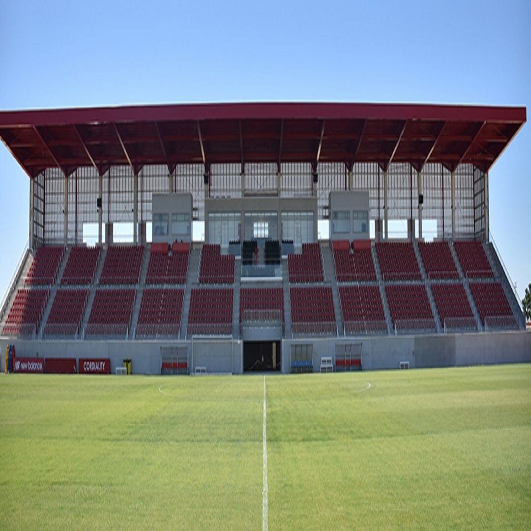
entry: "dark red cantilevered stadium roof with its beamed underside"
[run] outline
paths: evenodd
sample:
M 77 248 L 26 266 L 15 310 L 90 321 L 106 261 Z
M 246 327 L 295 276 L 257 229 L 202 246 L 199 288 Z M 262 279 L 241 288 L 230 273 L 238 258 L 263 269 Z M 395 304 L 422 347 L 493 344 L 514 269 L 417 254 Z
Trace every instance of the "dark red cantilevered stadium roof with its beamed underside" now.
M 30 177 L 93 166 L 220 162 L 426 162 L 488 171 L 525 107 L 245 103 L 0 112 L 0 137 Z

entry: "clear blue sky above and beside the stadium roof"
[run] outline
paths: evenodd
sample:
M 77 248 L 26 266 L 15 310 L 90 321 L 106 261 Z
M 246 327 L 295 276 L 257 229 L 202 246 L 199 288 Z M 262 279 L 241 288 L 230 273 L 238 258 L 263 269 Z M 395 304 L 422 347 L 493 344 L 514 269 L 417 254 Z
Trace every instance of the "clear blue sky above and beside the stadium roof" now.
M 0 109 L 189 101 L 531 104 L 531 2 L 0 0 Z M 490 174 L 491 231 L 531 282 L 531 126 Z M 0 292 L 29 180 L 0 146 Z M 0 294 L 1 296 L 1 294 Z

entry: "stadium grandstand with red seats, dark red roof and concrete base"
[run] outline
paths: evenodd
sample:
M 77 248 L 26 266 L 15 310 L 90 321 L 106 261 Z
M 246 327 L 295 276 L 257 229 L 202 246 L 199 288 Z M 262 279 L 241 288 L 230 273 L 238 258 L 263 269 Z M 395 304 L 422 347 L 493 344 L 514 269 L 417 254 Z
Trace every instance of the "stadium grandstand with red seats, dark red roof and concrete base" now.
M 531 361 L 489 231 L 489 171 L 525 121 L 357 103 L 0 112 L 30 185 L 0 348 L 148 374 Z

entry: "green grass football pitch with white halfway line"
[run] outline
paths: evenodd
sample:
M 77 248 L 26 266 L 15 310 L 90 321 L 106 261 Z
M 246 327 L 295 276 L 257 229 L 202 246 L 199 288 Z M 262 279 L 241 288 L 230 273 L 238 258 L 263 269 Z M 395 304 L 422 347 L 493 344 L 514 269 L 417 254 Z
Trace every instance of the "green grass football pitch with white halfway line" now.
M 266 387 L 269 529 L 531 527 L 531 365 Z M 259 375 L 2 375 L 0 528 L 261 529 L 262 436 Z

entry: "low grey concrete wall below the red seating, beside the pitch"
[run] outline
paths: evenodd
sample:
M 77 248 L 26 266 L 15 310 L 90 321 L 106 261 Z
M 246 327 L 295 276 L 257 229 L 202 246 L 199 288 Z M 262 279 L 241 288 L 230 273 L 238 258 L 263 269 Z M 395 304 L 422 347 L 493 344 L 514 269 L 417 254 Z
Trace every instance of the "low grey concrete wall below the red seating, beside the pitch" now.
M 258 337 L 253 337 L 259 340 Z M 48 341 L 0 338 L 0 370 L 4 371 L 5 347 L 14 344 L 20 357 L 110 358 L 111 370 L 133 361 L 133 373 L 160 374 L 160 347 L 186 346 L 191 371 L 196 366 L 208 372 L 241 374 L 243 341 L 198 338 L 192 341 Z M 525 331 L 388 336 L 357 338 L 306 338 L 281 341 L 281 371 L 291 371 L 291 346 L 313 345 L 313 370 L 319 371 L 322 356 L 335 359 L 336 344 L 361 344 L 363 370 L 397 369 L 399 362 L 414 367 L 450 367 L 496 363 L 531 362 L 531 333 Z

